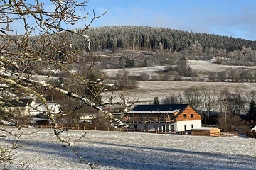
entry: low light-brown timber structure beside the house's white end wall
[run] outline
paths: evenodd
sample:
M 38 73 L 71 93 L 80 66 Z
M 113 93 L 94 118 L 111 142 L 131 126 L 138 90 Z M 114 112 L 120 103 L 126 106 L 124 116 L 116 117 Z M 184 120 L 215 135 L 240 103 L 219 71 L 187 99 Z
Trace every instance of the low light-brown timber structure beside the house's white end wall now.
M 191 135 L 219 137 L 220 136 L 220 128 L 216 128 L 216 127 L 193 128 Z

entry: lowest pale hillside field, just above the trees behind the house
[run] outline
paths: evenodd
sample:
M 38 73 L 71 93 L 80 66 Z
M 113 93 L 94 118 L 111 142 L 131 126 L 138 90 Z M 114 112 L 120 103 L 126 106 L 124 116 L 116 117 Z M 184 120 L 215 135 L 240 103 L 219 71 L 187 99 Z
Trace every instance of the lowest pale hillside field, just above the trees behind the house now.
M 206 86 L 210 89 L 225 89 L 228 91 L 242 91 L 244 94 L 256 90 L 256 83 L 231 83 L 231 82 L 201 82 L 201 81 L 137 81 L 137 88 L 125 90 L 124 97 L 129 101 L 137 101 L 137 103 L 153 103 L 157 96 L 161 101 L 162 98 L 183 94 L 183 91 L 191 86 Z M 118 98 L 119 91 L 114 91 L 113 101 L 120 101 Z M 108 97 L 112 92 L 107 92 Z M 104 98 L 107 98 L 103 96 Z

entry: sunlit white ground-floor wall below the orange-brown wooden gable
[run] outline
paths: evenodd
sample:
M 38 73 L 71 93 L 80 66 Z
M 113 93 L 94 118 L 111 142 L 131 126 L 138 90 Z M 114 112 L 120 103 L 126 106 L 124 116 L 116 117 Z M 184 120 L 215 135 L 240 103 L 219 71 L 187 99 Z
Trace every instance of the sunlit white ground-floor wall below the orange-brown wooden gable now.
M 178 121 L 176 122 L 176 129 L 174 128 L 174 130 L 178 132 L 185 131 L 185 125 L 186 125 L 186 130 L 191 130 L 192 125 L 193 125 L 193 128 L 202 127 L 201 120 Z

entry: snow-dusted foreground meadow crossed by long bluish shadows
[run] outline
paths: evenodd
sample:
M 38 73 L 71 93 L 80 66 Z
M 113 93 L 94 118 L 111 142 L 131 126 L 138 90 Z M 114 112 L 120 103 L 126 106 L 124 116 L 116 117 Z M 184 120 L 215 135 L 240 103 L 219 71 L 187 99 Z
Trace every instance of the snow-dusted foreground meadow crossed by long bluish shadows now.
M 53 130 L 21 137 L 20 145 L 14 162 L 25 162 L 28 169 L 90 169 L 60 145 Z M 255 146 L 255 139 L 239 137 L 89 131 L 75 148 L 96 169 L 256 169 Z

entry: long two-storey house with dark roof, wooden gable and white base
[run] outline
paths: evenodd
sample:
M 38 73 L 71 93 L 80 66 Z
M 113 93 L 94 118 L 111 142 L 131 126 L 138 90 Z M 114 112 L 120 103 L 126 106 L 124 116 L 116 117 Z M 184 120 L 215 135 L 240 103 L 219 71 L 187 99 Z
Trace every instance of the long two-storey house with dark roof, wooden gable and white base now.
M 137 131 L 182 132 L 201 127 L 202 116 L 188 104 L 137 105 L 122 122 Z

